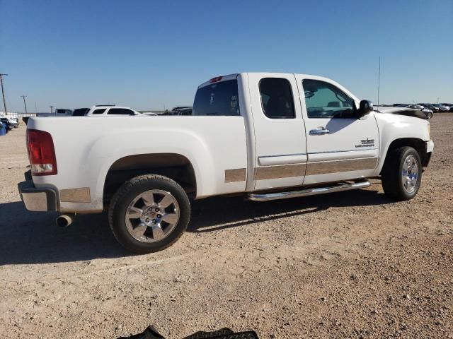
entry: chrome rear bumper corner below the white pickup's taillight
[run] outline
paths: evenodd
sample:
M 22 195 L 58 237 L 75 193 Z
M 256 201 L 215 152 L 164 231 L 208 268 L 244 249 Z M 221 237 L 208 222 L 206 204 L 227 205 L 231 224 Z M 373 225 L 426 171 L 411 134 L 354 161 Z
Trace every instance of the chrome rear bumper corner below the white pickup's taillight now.
M 19 194 L 25 208 L 34 212 L 57 210 L 57 194 L 53 189 L 38 189 L 33 180 L 18 184 Z

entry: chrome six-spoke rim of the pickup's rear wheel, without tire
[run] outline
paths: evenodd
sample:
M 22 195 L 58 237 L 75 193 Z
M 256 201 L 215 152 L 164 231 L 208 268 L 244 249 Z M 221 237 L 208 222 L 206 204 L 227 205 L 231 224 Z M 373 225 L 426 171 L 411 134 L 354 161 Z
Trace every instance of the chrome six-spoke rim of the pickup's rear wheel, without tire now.
M 125 215 L 127 231 L 139 242 L 159 242 L 171 234 L 178 221 L 178 201 L 160 189 L 136 196 Z

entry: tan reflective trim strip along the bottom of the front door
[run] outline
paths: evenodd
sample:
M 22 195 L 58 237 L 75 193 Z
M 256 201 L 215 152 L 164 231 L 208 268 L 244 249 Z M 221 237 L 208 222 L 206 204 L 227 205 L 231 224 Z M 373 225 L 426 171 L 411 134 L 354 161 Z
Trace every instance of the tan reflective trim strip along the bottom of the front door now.
M 365 159 L 336 160 L 324 162 L 308 162 L 305 175 L 329 174 L 338 172 L 360 171 L 362 169 L 374 169 L 377 166 L 378 157 Z

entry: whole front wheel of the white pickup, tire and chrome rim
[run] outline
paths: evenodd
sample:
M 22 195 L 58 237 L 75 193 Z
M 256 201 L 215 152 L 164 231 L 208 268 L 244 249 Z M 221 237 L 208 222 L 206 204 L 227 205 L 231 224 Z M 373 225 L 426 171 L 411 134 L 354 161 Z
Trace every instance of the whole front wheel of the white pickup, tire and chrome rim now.
M 412 147 L 391 151 L 382 171 L 382 188 L 386 196 L 404 201 L 413 198 L 422 180 L 420 155 Z

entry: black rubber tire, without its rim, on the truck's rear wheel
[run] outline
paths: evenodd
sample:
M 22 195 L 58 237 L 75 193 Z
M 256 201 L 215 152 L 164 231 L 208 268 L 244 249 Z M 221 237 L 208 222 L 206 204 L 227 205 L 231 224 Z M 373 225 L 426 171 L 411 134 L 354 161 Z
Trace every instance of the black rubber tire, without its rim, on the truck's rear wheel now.
M 127 208 L 140 194 L 150 190 L 166 191 L 178 202 L 179 219 L 168 235 L 155 242 L 140 242 L 127 230 Z M 185 191 L 176 182 L 161 175 L 149 174 L 134 177 L 117 190 L 108 210 L 108 220 L 113 235 L 125 249 L 138 254 L 162 251 L 174 244 L 184 233 L 190 220 L 190 201 Z M 153 221 L 154 222 L 154 221 Z

